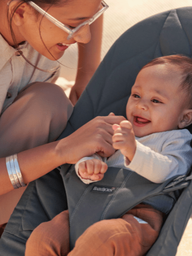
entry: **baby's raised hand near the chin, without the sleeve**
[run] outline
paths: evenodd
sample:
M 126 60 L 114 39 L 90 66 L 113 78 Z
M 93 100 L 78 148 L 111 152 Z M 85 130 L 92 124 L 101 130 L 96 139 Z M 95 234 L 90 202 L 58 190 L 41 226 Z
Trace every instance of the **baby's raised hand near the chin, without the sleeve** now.
M 120 149 L 121 153 L 132 161 L 136 151 L 136 141 L 130 121 L 122 121 L 120 125 L 113 125 L 113 147 Z

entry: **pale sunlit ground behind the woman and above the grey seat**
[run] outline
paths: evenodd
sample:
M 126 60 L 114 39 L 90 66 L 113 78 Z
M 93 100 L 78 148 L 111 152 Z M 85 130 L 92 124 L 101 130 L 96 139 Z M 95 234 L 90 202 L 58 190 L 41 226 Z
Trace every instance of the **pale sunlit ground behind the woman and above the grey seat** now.
M 115 40 L 137 22 L 166 10 L 192 6 L 192 0 L 106 0 L 106 3 L 110 7 L 104 14 L 101 59 Z M 64 65 L 61 76 L 69 81 L 75 80 L 77 58 L 75 44 L 59 60 Z

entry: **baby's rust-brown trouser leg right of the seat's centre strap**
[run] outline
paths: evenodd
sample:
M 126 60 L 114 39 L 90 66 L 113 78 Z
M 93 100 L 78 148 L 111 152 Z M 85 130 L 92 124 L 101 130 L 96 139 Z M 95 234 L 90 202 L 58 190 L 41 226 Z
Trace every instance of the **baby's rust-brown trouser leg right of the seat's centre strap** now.
M 145 211 L 144 215 L 149 218 L 147 224 L 139 223 L 129 212 L 122 218 L 93 224 L 77 239 L 68 256 L 143 256 L 154 244 L 162 225 L 159 211 Z

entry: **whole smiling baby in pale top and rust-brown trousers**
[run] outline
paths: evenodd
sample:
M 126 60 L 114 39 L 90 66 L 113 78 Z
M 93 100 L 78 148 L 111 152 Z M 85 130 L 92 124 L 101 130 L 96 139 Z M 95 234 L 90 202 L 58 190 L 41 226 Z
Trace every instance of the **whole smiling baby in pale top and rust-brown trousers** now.
M 192 124 L 192 59 L 172 55 L 145 65 L 132 87 L 126 116 L 113 125 L 109 143 L 117 151 L 112 156 L 102 159 L 94 154 L 77 162 L 83 182 L 100 181 L 108 166 L 127 168 L 155 183 L 187 174 L 192 135 L 183 128 Z M 154 205 L 143 202 L 120 218 L 98 221 L 79 236 L 72 251 L 68 211 L 63 211 L 32 232 L 25 256 L 142 256 L 158 237 L 166 207 L 163 200 L 154 200 Z

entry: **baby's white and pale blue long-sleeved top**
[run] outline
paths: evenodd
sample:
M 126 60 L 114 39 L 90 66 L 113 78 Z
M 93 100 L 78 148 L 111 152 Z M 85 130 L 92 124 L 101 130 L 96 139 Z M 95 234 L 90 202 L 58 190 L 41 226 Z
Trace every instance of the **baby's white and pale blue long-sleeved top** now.
M 187 129 L 158 132 L 135 139 L 137 147 L 131 162 L 121 154 L 120 150 L 108 159 L 94 154 L 77 162 L 75 165 L 77 176 L 86 184 L 96 182 L 82 179 L 78 174 L 79 163 L 93 158 L 106 162 L 108 167 L 135 171 L 155 183 L 162 183 L 176 175 L 185 175 L 192 166 L 190 145 L 192 135 Z

